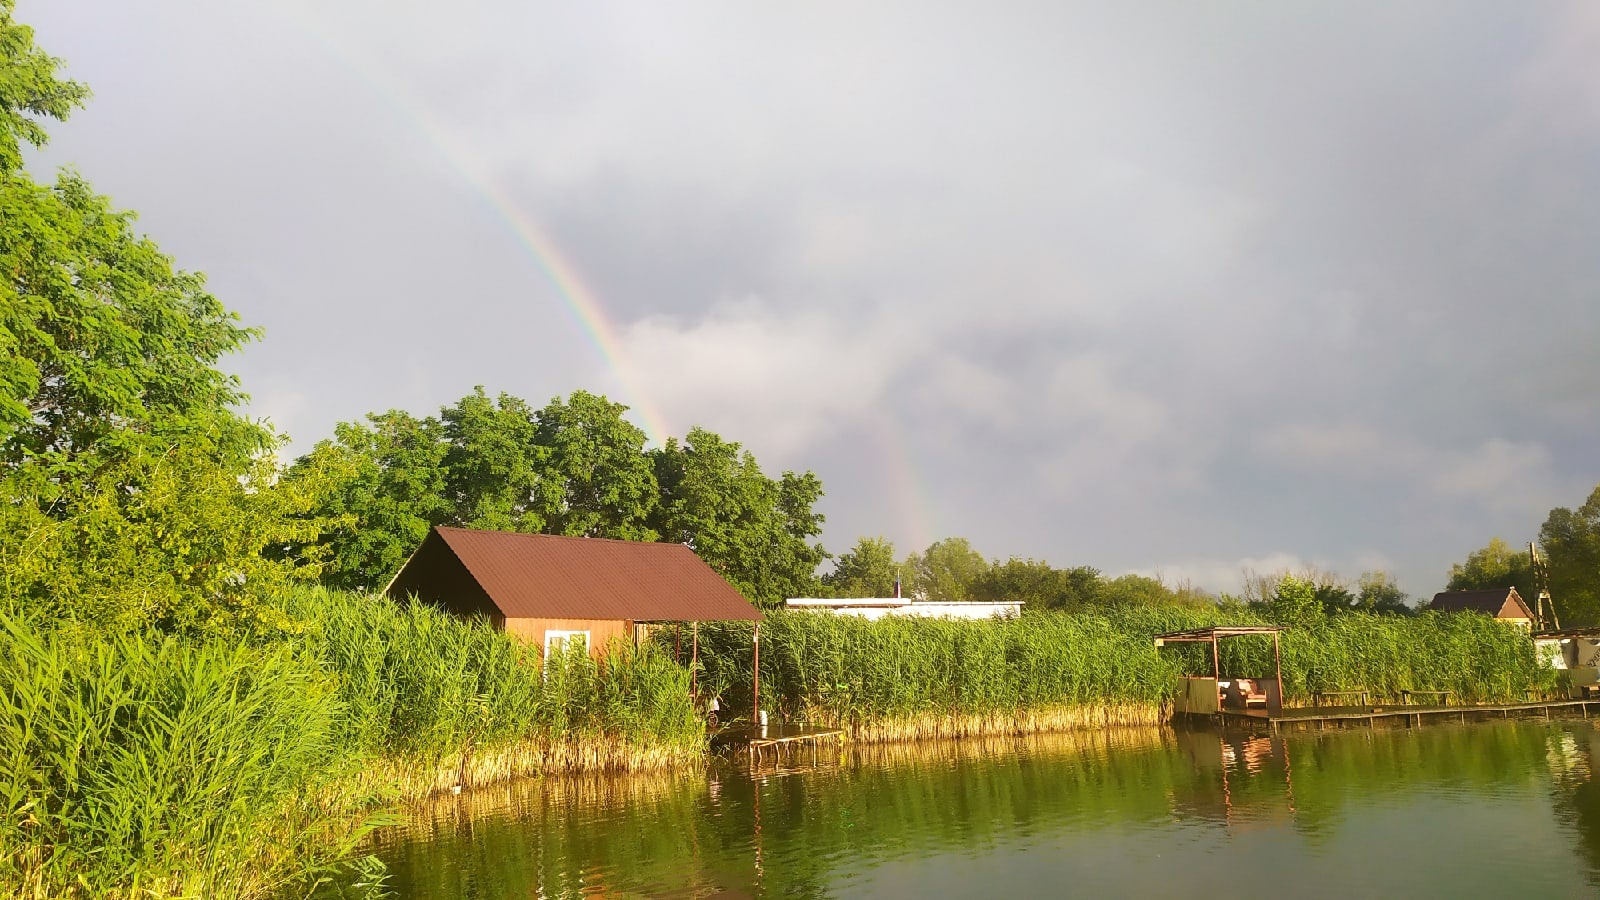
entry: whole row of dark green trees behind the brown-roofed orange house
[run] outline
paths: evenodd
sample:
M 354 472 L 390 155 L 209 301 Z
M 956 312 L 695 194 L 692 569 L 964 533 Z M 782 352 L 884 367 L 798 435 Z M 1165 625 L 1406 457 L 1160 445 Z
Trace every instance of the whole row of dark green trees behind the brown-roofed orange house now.
M 690 431 L 645 448 L 627 407 L 584 391 L 534 410 L 482 388 L 418 420 L 341 424 L 290 471 L 341 471 L 314 514 L 325 585 L 381 588 L 434 525 L 685 543 L 765 605 L 813 593 L 822 528 L 814 474 L 766 477 L 739 444 Z

